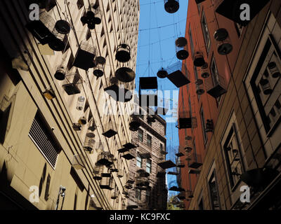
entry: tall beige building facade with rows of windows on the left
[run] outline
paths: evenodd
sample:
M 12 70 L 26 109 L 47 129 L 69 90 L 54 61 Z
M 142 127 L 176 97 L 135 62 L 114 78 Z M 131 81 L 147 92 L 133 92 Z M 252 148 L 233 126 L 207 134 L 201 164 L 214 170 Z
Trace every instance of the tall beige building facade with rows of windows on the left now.
M 117 149 L 132 138 L 133 99 L 105 89 L 117 69 L 136 69 L 139 7 L 1 1 L 1 209 L 126 209 Z M 115 59 L 124 43 L 126 63 Z

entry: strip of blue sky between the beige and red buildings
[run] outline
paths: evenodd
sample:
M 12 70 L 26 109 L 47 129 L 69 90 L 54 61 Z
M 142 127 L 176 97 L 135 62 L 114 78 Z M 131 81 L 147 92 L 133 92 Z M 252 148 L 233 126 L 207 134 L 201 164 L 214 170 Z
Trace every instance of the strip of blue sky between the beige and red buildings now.
M 140 0 L 141 13 L 138 33 L 138 57 L 136 67 L 136 89 L 140 77 L 156 76 L 157 71 L 163 66 L 166 68 L 178 62 L 176 59 L 175 41 L 179 36 L 185 34 L 185 23 L 188 12 L 188 1 L 179 0 L 180 8 L 176 13 L 166 13 L 164 1 L 162 0 Z M 175 109 L 178 97 L 172 95 L 173 90 L 178 88 L 168 78 L 158 81 L 158 90 L 170 90 L 168 102 Z M 166 96 L 166 95 L 165 95 Z M 171 112 L 171 111 L 170 111 Z M 166 159 L 174 160 L 178 146 L 178 129 L 176 123 L 167 122 L 166 146 L 169 154 Z M 168 170 L 166 170 L 168 171 Z M 167 175 L 168 187 L 174 185 L 176 176 Z M 169 192 L 176 194 L 176 192 Z

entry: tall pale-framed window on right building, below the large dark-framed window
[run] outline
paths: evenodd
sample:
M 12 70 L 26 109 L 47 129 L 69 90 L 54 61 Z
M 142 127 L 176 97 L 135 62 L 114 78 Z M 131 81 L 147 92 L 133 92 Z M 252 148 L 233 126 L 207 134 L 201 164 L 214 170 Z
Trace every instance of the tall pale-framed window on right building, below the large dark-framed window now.
M 234 123 L 230 128 L 226 142 L 223 145 L 223 151 L 226 155 L 230 186 L 233 188 L 240 181 L 240 175 L 244 173 L 242 156 Z

